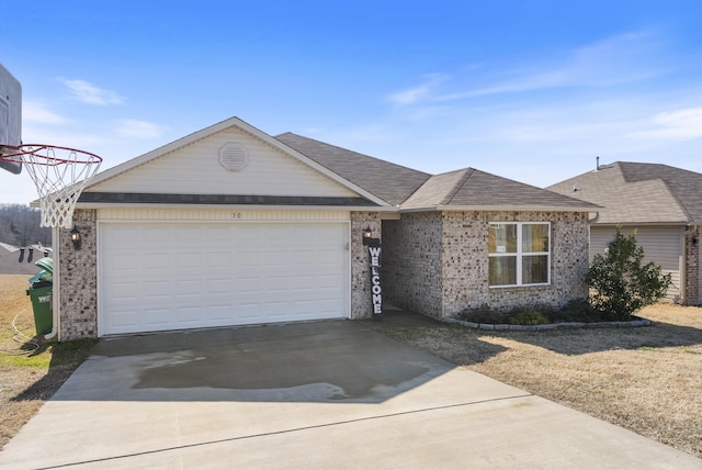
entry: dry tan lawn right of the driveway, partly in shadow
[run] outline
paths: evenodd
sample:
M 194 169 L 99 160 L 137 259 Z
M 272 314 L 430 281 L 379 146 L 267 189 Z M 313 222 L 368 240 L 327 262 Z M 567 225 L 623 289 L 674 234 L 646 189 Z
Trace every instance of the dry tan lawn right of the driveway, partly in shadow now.
M 702 457 L 702 309 L 654 305 L 638 328 L 384 332 L 505 383 Z

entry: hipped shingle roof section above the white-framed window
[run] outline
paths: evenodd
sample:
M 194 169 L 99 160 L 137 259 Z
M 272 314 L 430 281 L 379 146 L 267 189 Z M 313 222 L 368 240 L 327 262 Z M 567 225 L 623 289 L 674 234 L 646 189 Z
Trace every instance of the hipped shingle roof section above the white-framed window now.
M 474 168 L 433 176 L 405 203 L 403 209 L 430 206 L 461 208 L 598 208 L 582 201 L 501 178 Z

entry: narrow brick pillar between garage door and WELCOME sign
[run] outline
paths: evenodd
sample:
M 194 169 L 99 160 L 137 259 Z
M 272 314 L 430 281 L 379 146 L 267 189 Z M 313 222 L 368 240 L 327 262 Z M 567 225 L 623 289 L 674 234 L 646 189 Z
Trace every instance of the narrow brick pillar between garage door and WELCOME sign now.
M 365 228 L 371 228 L 374 238 L 383 238 L 377 212 L 351 212 L 351 318 L 367 318 L 373 314 L 371 266 L 367 247 L 363 245 Z M 385 288 L 384 283 L 382 286 Z

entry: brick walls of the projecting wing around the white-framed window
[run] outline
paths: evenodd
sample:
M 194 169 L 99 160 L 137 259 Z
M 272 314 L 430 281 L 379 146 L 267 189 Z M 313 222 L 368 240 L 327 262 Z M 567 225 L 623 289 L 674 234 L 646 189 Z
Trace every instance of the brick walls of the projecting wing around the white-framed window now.
M 386 299 L 434 317 L 488 304 L 561 306 L 587 296 L 588 214 L 566 212 L 428 212 L 384 222 Z M 551 284 L 488 287 L 490 222 L 551 222 Z

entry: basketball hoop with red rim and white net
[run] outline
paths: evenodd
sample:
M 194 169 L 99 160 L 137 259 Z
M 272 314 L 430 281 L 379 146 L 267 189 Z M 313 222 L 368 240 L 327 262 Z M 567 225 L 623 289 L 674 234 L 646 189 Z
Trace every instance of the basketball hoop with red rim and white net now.
M 73 209 L 82 190 L 98 172 L 102 158 L 83 150 L 29 144 L 4 147 L 0 161 L 24 164 L 36 186 L 43 227 L 73 226 Z

